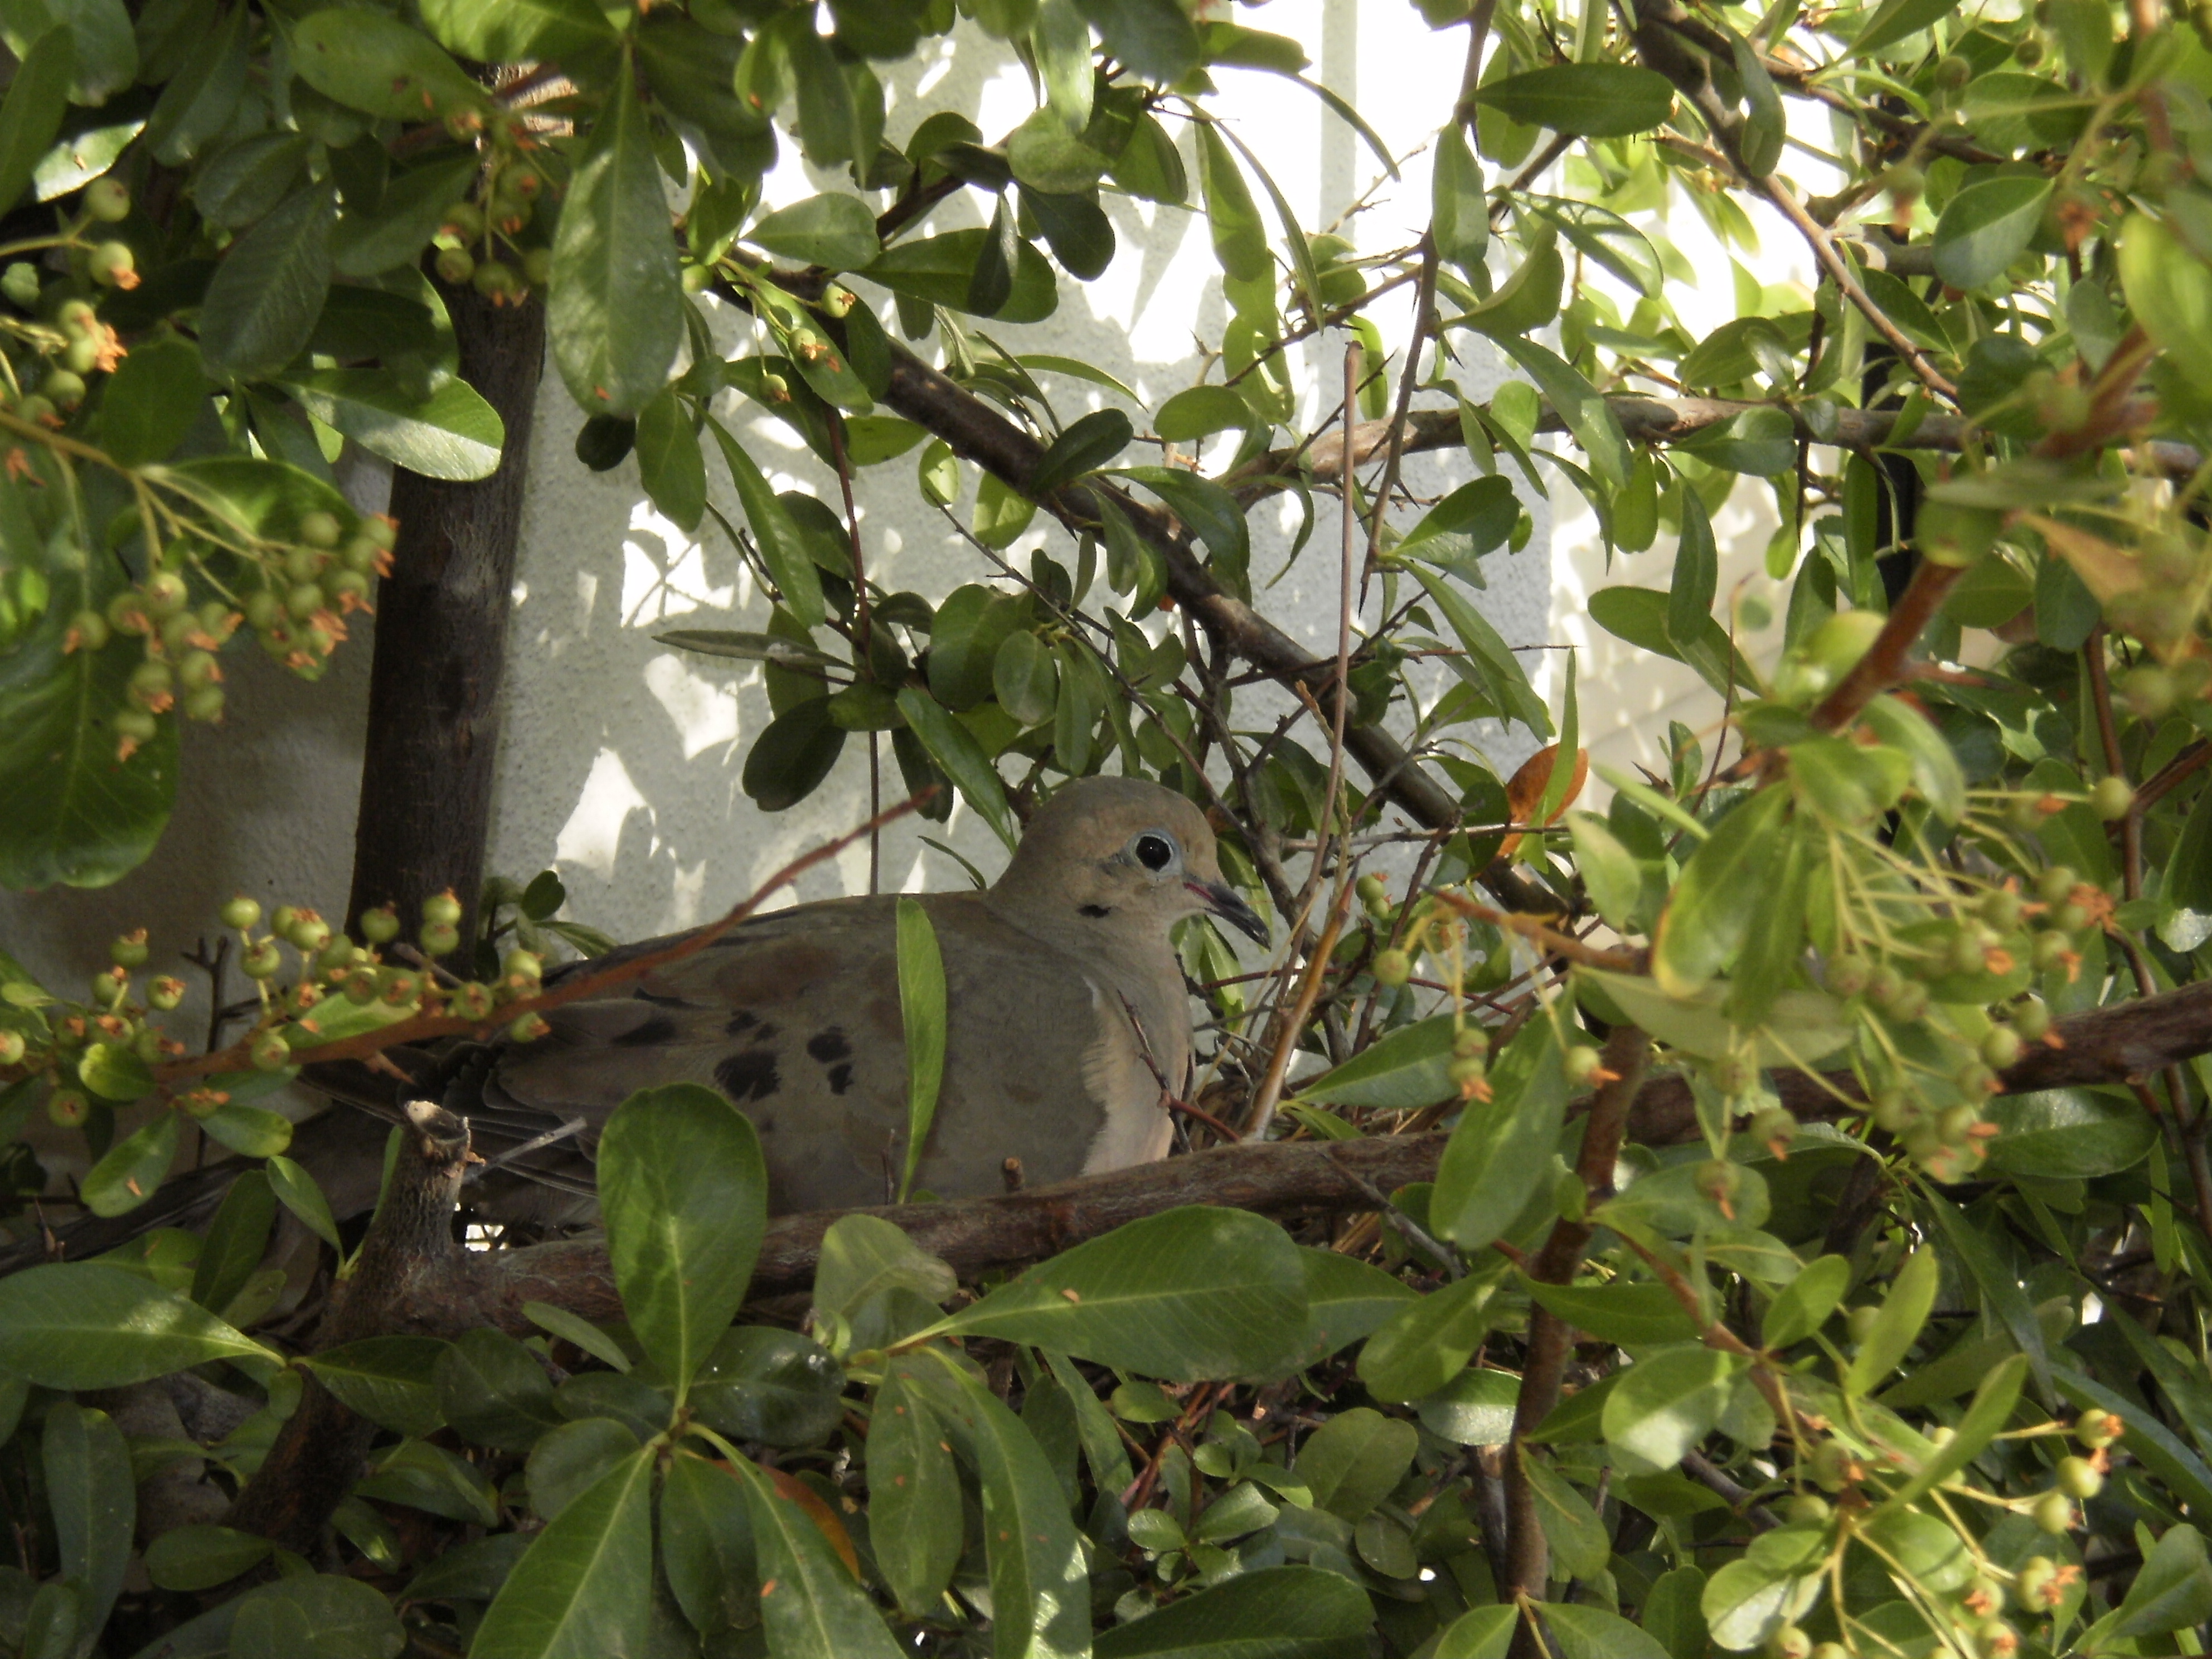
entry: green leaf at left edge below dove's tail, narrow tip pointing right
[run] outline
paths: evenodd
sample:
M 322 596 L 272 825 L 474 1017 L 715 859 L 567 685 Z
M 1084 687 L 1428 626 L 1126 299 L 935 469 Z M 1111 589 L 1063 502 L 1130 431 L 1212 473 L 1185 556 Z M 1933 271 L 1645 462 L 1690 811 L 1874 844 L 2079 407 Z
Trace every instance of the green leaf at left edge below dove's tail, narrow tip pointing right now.
M 208 1360 L 283 1356 L 144 1274 L 97 1261 L 0 1279 L 0 1371 L 42 1389 L 122 1389 Z

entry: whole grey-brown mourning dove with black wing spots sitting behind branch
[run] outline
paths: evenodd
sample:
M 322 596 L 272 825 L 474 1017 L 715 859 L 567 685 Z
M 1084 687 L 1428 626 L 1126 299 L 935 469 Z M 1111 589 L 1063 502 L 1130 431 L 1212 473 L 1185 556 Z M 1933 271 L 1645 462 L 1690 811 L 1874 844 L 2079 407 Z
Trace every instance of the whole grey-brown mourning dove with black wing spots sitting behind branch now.
M 1161 1093 L 1190 1079 L 1168 929 L 1212 914 L 1267 940 L 1221 880 L 1199 810 L 1157 783 L 1082 779 L 1035 814 L 993 887 L 920 902 L 945 960 L 947 1040 L 916 1190 L 998 1192 L 1006 1159 L 1060 1181 L 1164 1157 Z M 770 1212 L 887 1203 L 907 1130 L 896 905 L 832 898 L 741 922 L 606 1000 L 549 1011 L 551 1033 L 478 1055 L 447 1106 L 500 1159 L 500 1141 L 560 1141 L 562 1126 L 582 1124 L 588 1144 L 639 1088 L 706 1084 L 759 1128 Z M 507 1161 L 533 1175 L 549 1155 L 573 1161 L 566 1144 Z M 573 1199 L 535 1210 L 584 1214 Z

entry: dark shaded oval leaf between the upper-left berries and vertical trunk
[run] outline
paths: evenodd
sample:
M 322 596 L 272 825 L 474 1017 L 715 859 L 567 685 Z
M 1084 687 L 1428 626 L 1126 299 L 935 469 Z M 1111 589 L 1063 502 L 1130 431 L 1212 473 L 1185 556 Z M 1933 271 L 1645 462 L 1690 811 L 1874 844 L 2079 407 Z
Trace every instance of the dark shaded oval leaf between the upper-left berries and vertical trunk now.
M 305 349 L 330 294 L 336 221 L 338 195 L 330 181 L 307 184 L 230 243 L 199 307 L 199 354 L 210 374 L 252 380 Z

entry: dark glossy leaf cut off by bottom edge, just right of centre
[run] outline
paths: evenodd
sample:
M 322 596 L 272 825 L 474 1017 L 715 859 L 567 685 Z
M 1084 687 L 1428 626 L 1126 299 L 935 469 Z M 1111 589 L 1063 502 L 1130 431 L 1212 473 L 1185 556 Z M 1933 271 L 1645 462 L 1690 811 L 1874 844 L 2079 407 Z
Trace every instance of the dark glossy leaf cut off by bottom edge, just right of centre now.
M 1363 1659 L 1371 1626 L 1374 1606 L 1352 1579 L 1265 1566 L 1104 1630 L 1091 1650 L 1097 1659 Z

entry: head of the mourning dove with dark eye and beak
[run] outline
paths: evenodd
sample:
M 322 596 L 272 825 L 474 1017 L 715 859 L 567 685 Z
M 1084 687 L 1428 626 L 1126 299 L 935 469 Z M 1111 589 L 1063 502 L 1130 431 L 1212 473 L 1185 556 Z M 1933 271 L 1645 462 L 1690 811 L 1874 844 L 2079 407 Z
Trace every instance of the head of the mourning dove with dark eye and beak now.
M 1144 779 L 1077 779 L 1046 801 L 993 894 L 1055 936 L 1088 925 L 1166 938 L 1203 911 L 1267 942 L 1267 925 L 1221 880 L 1206 814 Z

